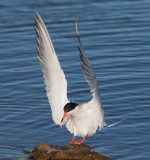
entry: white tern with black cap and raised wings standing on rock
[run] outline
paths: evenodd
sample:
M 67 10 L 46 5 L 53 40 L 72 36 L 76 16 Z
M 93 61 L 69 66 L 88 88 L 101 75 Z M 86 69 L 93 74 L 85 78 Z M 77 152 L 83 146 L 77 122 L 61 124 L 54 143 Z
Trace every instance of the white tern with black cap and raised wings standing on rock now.
M 70 143 L 74 141 L 75 136 L 83 137 L 81 142 L 74 142 L 74 144 L 80 145 L 85 138 L 92 137 L 98 127 L 102 129 L 107 124 L 104 120 L 98 82 L 80 41 L 78 22 L 76 22 L 76 31 L 80 44 L 81 67 L 92 92 L 92 100 L 86 103 L 77 104 L 68 100 L 65 74 L 60 66 L 47 28 L 38 13 L 35 17 L 35 30 L 38 59 L 43 71 L 52 118 L 60 126 L 65 124 L 67 129 L 74 134 Z

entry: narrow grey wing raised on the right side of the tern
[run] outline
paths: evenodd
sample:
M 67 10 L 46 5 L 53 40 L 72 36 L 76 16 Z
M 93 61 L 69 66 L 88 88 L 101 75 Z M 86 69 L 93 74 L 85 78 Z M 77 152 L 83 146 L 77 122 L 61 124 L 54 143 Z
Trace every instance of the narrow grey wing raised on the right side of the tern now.
M 79 51 L 80 51 L 80 58 L 82 60 L 81 63 L 81 67 L 82 67 L 82 71 L 84 74 L 84 77 L 87 81 L 87 83 L 89 84 L 90 88 L 91 88 L 91 92 L 92 92 L 92 105 L 94 105 L 95 107 L 98 107 L 99 111 L 100 111 L 100 116 L 101 116 L 101 121 L 100 121 L 100 128 L 103 128 L 103 126 L 106 125 L 106 122 L 104 121 L 104 110 L 102 107 L 102 102 L 101 102 L 101 95 L 100 95 L 100 91 L 99 91 L 99 87 L 98 87 L 98 82 L 96 80 L 96 76 L 95 73 L 90 65 L 89 59 L 87 58 L 87 55 L 84 51 L 83 45 L 81 43 L 80 40 L 80 36 L 79 36 L 79 31 L 78 31 L 78 21 L 76 22 L 76 32 L 77 32 L 77 37 L 79 40 Z

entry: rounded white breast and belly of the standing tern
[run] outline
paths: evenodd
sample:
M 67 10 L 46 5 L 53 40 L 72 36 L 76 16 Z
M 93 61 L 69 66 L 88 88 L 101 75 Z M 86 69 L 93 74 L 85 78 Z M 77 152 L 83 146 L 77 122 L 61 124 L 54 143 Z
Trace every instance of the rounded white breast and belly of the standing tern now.
M 88 103 L 80 104 L 75 111 L 68 116 L 67 129 L 74 136 L 91 137 L 96 133 L 100 121 L 99 110 L 89 107 Z

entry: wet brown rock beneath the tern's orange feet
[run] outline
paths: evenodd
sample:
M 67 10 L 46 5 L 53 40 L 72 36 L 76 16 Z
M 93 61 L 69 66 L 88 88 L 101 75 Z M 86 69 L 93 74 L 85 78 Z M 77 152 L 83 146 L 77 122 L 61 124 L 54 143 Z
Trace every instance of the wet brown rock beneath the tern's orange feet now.
M 67 146 L 54 146 L 39 143 L 32 151 L 30 159 L 34 160 L 110 160 L 111 158 L 101 155 L 92 150 L 93 148 L 81 144 Z

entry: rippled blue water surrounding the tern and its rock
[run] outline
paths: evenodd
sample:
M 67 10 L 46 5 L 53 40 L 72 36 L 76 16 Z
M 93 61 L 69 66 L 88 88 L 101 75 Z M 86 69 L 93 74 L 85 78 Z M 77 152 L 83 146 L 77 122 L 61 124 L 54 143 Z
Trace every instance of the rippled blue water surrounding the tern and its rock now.
M 65 145 L 55 126 L 35 49 L 34 16 L 43 17 L 68 80 L 70 100 L 90 100 L 80 67 L 75 21 L 101 89 L 105 119 L 126 122 L 86 140 L 117 160 L 150 157 L 150 1 L 0 1 L 0 159 L 28 159 L 39 142 Z M 80 140 L 80 139 L 79 139 Z

